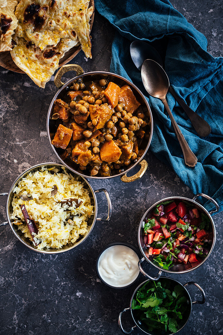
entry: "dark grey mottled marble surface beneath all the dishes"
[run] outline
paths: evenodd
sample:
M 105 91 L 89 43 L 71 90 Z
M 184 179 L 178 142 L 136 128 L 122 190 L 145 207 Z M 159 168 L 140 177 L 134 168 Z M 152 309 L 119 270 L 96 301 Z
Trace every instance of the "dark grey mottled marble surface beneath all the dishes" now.
M 222 56 L 222 1 L 174 0 L 173 5 L 202 31 L 208 51 Z M 73 60 L 85 71 L 109 70 L 114 31 L 97 13 L 91 32 L 93 59 L 83 53 Z M 26 76 L 0 69 L 1 192 L 28 167 L 56 161 L 46 135 L 48 106 L 57 89 L 53 80 L 45 90 Z M 72 78 L 68 73 L 67 78 Z M 52 78 L 53 79 L 53 78 Z M 144 211 L 161 198 L 192 197 L 168 167 L 148 152 L 149 168 L 141 180 L 124 184 L 118 178 L 91 181 L 94 189 L 104 187 L 111 195 L 113 213 L 108 224 L 96 222 L 90 237 L 79 248 L 59 255 L 33 252 L 16 240 L 9 226 L 0 228 L 0 333 L 1 334 L 121 334 L 119 312 L 129 307 L 137 284 L 123 290 L 100 282 L 95 269 L 99 251 L 113 241 L 137 246 L 138 224 Z M 99 213 L 106 211 L 98 195 Z M 5 200 L 0 202 L 0 219 L 5 220 Z M 189 274 L 172 275 L 182 283 L 194 280 L 205 290 L 205 305 L 194 305 L 190 322 L 181 335 L 222 333 L 222 220 L 213 216 L 217 230 L 215 249 L 208 261 Z M 147 266 L 147 270 L 150 267 Z M 155 270 L 151 269 L 155 274 Z M 144 278 L 141 276 L 138 283 Z M 196 289 L 190 288 L 194 298 Z M 125 320 L 124 320 L 125 322 Z M 126 316 L 126 323 L 130 318 Z M 134 331 L 134 334 L 142 334 Z

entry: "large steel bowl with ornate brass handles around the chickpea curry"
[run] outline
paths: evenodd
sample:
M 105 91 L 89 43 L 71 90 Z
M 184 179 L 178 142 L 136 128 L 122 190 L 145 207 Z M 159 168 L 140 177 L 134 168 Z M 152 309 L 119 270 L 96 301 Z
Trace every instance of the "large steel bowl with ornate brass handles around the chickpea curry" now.
M 61 82 L 61 77 L 62 75 L 67 72 L 67 71 L 76 71 L 77 76 L 70 79 L 68 82 L 66 82 L 66 84 L 64 84 L 63 82 Z M 98 176 L 90 176 L 87 174 L 84 174 L 83 172 L 81 172 L 80 170 L 78 171 L 78 165 L 76 163 L 71 163 L 69 161 L 69 164 L 67 161 L 64 161 L 61 157 L 60 154 L 62 153 L 62 149 L 60 148 L 56 148 L 52 145 L 51 143 L 51 136 L 50 133 L 55 133 L 56 132 L 56 128 L 55 128 L 55 121 L 51 120 L 51 116 L 53 115 L 53 108 L 54 108 L 54 101 L 58 98 L 63 98 L 66 90 L 69 89 L 69 87 L 71 86 L 71 83 L 74 80 L 77 79 L 82 79 L 83 81 L 95 81 L 95 80 L 100 80 L 101 78 L 105 78 L 109 76 L 109 80 L 114 81 L 115 83 L 119 84 L 119 85 L 125 85 L 128 84 L 131 89 L 133 90 L 133 93 L 135 94 L 136 98 L 139 100 L 139 102 L 141 103 L 141 107 L 143 109 L 144 114 L 147 117 L 147 120 L 150 122 L 150 133 L 149 133 L 149 139 L 148 141 L 143 141 L 140 149 L 143 149 L 143 154 L 142 156 L 134 163 L 130 164 L 130 166 L 126 169 L 124 169 L 123 172 L 118 173 L 116 175 L 113 176 L 109 176 L 109 177 L 98 177 Z M 143 93 L 129 80 L 125 79 L 124 77 L 121 77 L 115 73 L 110 73 L 110 72 L 106 72 L 106 71 L 97 71 L 97 72 L 87 72 L 84 73 L 83 69 L 79 66 L 79 65 L 75 65 L 75 64 L 69 64 L 69 65 L 65 65 L 62 66 L 61 69 L 57 72 L 56 76 L 55 76 L 55 80 L 54 80 L 55 85 L 60 88 L 59 91 L 55 94 L 55 96 L 52 99 L 52 102 L 50 104 L 49 110 L 48 110 L 48 115 L 47 115 L 47 135 L 48 135 L 48 139 L 51 145 L 51 148 L 53 150 L 53 152 L 55 153 L 55 155 L 57 156 L 57 158 L 63 163 L 63 165 L 65 165 L 66 167 L 68 167 L 68 169 L 70 169 L 71 171 L 73 171 L 74 173 L 77 173 L 78 175 L 82 176 L 82 177 L 87 177 L 87 178 L 92 178 L 92 179 L 109 179 L 109 178 L 114 178 L 114 177 L 120 177 L 121 180 L 123 182 L 132 182 L 136 179 L 139 179 L 143 176 L 143 174 L 145 173 L 146 169 L 147 169 L 147 162 L 145 159 L 143 159 L 143 157 L 145 156 L 151 140 L 152 140 L 152 134 L 153 134 L 153 118 L 152 118 L 152 113 L 149 107 L 149 104 L 145 98 L 145 96 L 143 95 Z M 141 169 L 140 171 L 135 174 L 134 176 L 131 177 L 127 177 L 127 173 L 134 169 L 134 167 L 136 165 L 140 164 L 141 165 Z

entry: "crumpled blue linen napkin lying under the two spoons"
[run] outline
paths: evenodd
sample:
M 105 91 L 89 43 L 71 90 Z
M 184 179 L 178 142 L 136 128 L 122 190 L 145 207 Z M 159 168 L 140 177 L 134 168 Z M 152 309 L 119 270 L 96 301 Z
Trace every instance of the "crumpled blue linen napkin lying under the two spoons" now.
M 167 0 L 95 0 L 95 7 L 115 28 L 110 70 L 142 90 L 152 110 L 154 130 L 150 150 L 196 193 L 213 197 L 223 210 L 223 58 L 207 52 L 207 40 Z M 195 168 L 184 163 L 181 147 L 161 100 L 145 91 L 130 56 L 134 40 L 152 42 L 164 60 L 175 92 L 211 126 L 199 137 L 182 108 L 167 93 L 170 110 L 198 158 Z M 183 194 L 182 194 L 183 196 Z M 203 200 L 202 200 L 203 199 Z M 207 210 L 215 206 L 203 201 Z

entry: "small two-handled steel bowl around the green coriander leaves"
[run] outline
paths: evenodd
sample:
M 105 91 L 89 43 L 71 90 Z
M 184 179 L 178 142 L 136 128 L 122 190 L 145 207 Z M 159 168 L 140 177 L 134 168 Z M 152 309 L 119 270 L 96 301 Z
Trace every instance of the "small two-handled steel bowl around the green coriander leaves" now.
M 149 280 L 150 280 L 150 279 L 149 279 Z M 158 334 L 157 331 L 156 331 L 156 332 L 152 331 L 152 332 L 148 333 L 148 331 L 146 330 L 146 327 L 145 327 L 143 324 L 141 324 L 141 323 L 139 322 L 139 320 L 137 320 L 137 318 L 136 318 L 135 315 L 134 315 L 134 314 L 135 314 L 135 313 L 134 313 L 135 310 L 132 309 L 132 300 L 133 300 L 133 298 L 134 298 L 136 292 L 138 291 L 138 289 L 139 289 L 141 286 L 143 286 L 143 285 L 144 285 L 145 283 L 147 283 L 149 280 L 145 280 L 142 284 L 140 284 L 140 285 L 135 289 L 135 291 L 134 291 L 134 293 L 133 293 L 133 295 L 132 295 L 131 301 L 130 301 L 130 307 L 129 307 L 129 308 L 125 308 L 125 309 L 119 314 L 119 327 L 120 327 L 121 331 L 122 331 L 124 334 L 130 334 L 130 333 L 132 333 L 132 331 L 134 330 L 134 328 L 139 328 L 141 331 L 143 331 L 144 333 L 146 333 L 146 334 L 148 334 L 148 335 L 157 335 L 157 334 Z M 161 282 L 162 282 L 162 281 L 171 281 L 173 286 L 175 286 L 175 285 L 180 285 L 180 286 L 182 286 L 182 288 L 183 288 L 183 290 L 184 290 L 184 295 L 187 297 L 187 303 L 185 303 L 185 304 L 187 304 L 187 310 L 186 310 L 186 312 L 185 312 L 186 315 L 184 316 L 184 318 L 183 318 L 182 320 L 180 320 L 180 323 L 179 323 L 180 329 L 178 329 L 177 332 L 176 332 L 176 333 L 178 333 L 178 332 L 179 332 L 179 331 L 180 331 L 180 330 L 181 330 L 181 329 L 188 323 L 188 321 L 189 321 L 189 319 L 190 319 L 190 316 L 191 316 L 191 312 L 192 312 L 192 305 L 194 305 L 194 304 L 204 304 L 204 303 L 205 303 L 205 298 L 206 298 L 206 297 L 205 297 L 205 292 L 204 292 L 203 288 L 201 288 L 201 286 L 198 285 L 197 283 L 195 283 L 194 281 L 189 281 L 188 283 L 186 283 L 186 284 L 184 284 L 184 285 L 182 285 L 179 281 L 174 280 L 174 279 L 172 279 L 172 278 L 168 278 L 168 277 L 160 277 L 160 281 L 161 281 Z M 201 301 L 200 301 L 200 300 L 192 301 L 191 296 L 190 296 L 190 294 L 189 294 L 189 292 L 188 292 L 188 290 L 187 290 L 187 288 L 186 288 L 188 285 L 195 285 L 195 286 L 198 287 L 198 289 L 201 291 L 201 294 L 202 294 L 202 300 L 201 300 Z M 135 326 L 133 326 L 129 331 L 124 330 L 123 325 L 122 325 L 122 321 L 121 321 L 122 314 L 123 314 L 124 312 L 127 312 L 127 311 L 130 311 L 130 312 L 131 312 L 133 321 L 135 322 Z M 167 332 L 166 332 L 167 335 L 173 335 L 173 334 L 176 334 L 176 333 L 171 333 L 170 331 L 167 331 Z

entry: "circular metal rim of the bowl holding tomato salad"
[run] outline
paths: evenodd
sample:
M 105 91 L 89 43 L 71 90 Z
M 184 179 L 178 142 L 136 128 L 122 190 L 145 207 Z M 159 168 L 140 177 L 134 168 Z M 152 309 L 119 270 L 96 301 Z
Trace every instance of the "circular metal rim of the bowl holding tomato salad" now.
M 211 248 L 209 250 L 209 253 L 207 255 L 207 257 L 204 258 L 204 260 L 202 262 L 200 262 L 198 265 L 196 265 L 195 267 L 192 267 L 191 269 L 187 269 L 187 270 L 183 270 L 183 271 L 170 271 L 170 270 L 165 270 L 161 267 L 159 267 L 158 265 L 154 264 L 153 262 L 151 262 L 151 260 L 146 256 L 143 248 L 142 248 L 142 245 L 141 245 L 141 242 L 140 242 L 140 231 L 141 231 L 141 226 L 143 224 L 143 221 L 146 217 L 146 215 L 148 214 L 148 212 L 156 205 L 160 204 L 161 202 L 163 201 L 166 201 L 166 200 L 173 200 L 174 199 L 177 199 L 177 200 L 185 200 L 185 201 L 190 201 L 192 203 L 195 203 L 196 205 L 200 206 L 201 209 L 203 211 L 206 212 L 206 214 L 208 215 L 210 221 L 211 221 L 211 224 L 212 224 L 212 229 L 213 229 L 213 240 L 212 240 L 212 245 L 211 245 Z M 215 229 L 215 224 L 214 224 L 214 221 L 211 217 L 211 215 L 209 214 L 209 212 L 207 211 L 207 209 L 202 206 L 201 204 L 199 204 L 197 201 L 193 200 L 193 199 L 190 199 L 190 198 L 185 198 L 185 197 L 180 197 L 180 196 L 174 196 L 174 197 L 167 197 L 167 198 L 163 198 L 159 201 L 157 201 L 156 203 L 154 203 L 152 206 L 149 207 L 149 209 L 146 210 L 146 212 L 143 214 L 142 218 L 141 218 L 141 221 L 139 223 L 139 228 L 138 228 L 138 244 L 139 244 L 139 248 L 141 250 L 141 253 L 143 254 L 145 260 L 150 263 L 151 265 L 153 265 L 154 267 L 156 267 L 159 271 L 164 271 L 164 272 L 167 272 L 167 273 L 173 273 L 173 274 L 182 274 L 182 273 L 187 273 L 187 272 L 191 272 L 195 269 L 197 269 L 199 266 L 203 265 L 204 262 L 209 258 L 209 256 L 211 255 L 213 249 L 214 249 L 214 246 L 215 246 L 215 242 L 216 242 L 216 229 Z

